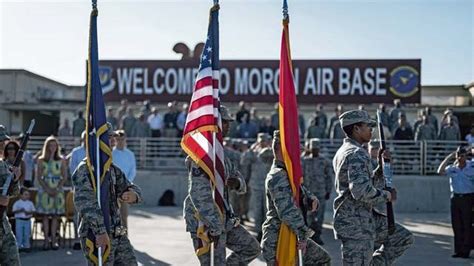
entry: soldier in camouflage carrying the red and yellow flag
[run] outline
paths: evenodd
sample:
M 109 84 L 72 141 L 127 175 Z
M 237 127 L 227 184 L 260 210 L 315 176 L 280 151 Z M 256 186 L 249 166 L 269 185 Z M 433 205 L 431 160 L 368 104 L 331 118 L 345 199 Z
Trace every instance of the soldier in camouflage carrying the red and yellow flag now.
M 293 200 L 293 192 L 288 180 L 288 173 L 283 162 L 280 145 L 280 132 L 273 135 L 274 161 L 265 180 L 267 197 L 267 217 L 263 223 L 262 252 L 267 265 L 275 265 L 280 226 L 285 223 L 298 237 L 298 246 L 303 249 L 304 265 L 329 265 L 331 258 L 326 250 L 311 240 L 314 231 L 306 225 L 302 210 Z M 301 187 L 301 189 L 305 189 Z M 318 200 L 307 191 L 312 202 L 312 211 L 316 211 Z

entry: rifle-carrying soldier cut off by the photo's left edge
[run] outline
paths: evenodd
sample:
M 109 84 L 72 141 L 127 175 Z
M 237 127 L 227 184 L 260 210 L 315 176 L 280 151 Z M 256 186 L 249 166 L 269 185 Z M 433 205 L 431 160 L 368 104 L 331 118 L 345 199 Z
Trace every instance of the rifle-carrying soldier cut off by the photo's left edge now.
M 8 136 L 6 134 L 1 134 L 0 141 L 3 142 L 5 140 L 8 140 Z M 8 164 L 5 161 L 0 160 L 0 188 L 3 188 L 7 177 L 11 174 L 14 174 L 14 179 L 12 180 L 13 189 L 10 192 L 10 195 L 0 195 L 0 205 L 5 208 L 8 207 L 9 198 L 18 196 L 20 193 L 18 177 L 20 177 L 21 172 L 17 167 L 9 169 Z M 3 189 L 1 192 L 3 192 Z M 18 254 L 15 235 L 12 232 L 10 222 L 8 222 L 6 211 L 3 213 L 2 224 L 0 225 L 0 265 L 20 265 L 20 257 Z

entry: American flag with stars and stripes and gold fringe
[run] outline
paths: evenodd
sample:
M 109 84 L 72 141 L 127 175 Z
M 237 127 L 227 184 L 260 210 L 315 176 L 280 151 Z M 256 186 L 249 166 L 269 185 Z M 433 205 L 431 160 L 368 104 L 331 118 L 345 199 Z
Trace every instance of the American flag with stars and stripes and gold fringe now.
M 208 175 L 224 219 L 224 148 L 219 113 L 219 5 L 210 11 L 206 44 L 189 104 L 181 147 Z

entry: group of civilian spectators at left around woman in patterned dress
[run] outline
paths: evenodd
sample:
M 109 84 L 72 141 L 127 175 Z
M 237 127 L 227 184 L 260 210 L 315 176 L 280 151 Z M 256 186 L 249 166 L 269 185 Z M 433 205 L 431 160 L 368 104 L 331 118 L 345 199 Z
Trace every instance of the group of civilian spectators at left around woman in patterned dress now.
M 144 115 L 142 114 L 141 117 L 141 119 L 140 117 L 137 119 L 137 124 L 134 127 L 140 127 L 140 123 L 143 123 Z M 78 122 L 81 118 L 82 113 L 78 113 L 78 118 L 74 121 L 73 126 L 75 129 L 83 130 L 80 134 L 81 143 L 69 154 L 64 153 L 59 139 L 55 136 L 46 138 L 43 148 L 36 154 L 29 150 L 24 153 L 23 161 L 20 164 L 21 176 L 19 177 L 22 188 L 21 197 L 14 203 L 12 202 L 9 213 L 17 226 L 16 235 L 20 251 L 29 251 L 31 248 L 31 218 L 33 217 L 35 221 L 41 221 L 44 235 L 42 248 L 44 250 L 59 249 L 59 225 L 63 222 L 62 217 L 65 217 L 67 213 L 68 201 L 72 199 L 72 197 L 66 196 L 68 193 L 73 193 L 71 177 L 79 163 L 86 157 L 84 147 L 86 132 L 82 123 Z M 63 129 L 65 128 L 67 126 L 63 125 L 60 132 L 64 133 L 66 130 Z M 135 132 L 134 128 L 132 128 L 132 132 Z M 22 138 L 21 135 L 16 139 L 11 138 L 7 135 L 5 127 L 0 125 L 0 158 L 7 164 L 13 164 Z M 136 175 L 136 159 L 133 152 L 127 148 L 125 131 L 110 130 L 109 139 L 114 164 L 124 172 L 129 181 L 133 181 Z M 69 207 L 71 206 L 72 204 L 69 204 Z M 125 225 L 127 216 L 127 205 L 122 204 L 121 217 Z M 74 248 L 80 248 L 78 242 L 75 243 Z

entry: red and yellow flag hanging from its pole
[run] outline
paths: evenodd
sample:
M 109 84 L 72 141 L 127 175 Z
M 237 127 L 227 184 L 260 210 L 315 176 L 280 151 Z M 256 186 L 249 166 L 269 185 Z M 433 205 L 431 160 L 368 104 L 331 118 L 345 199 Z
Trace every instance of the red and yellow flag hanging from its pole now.
M 286 1 L 285 1 L 286 4 Z M 284 4 L 284 12 L 285 12 Z M 298 131 L 298 108 L 293 82 L 293 66 L 290 55 L 290 40 L 287 14 L 283 19 L 283 33 L 280 52 L 280 96 L 279 120 L 283 159 L 293 191 L 295 204 L 299 205 L 300 184 L 302 181 L 300 162 L 300 138 Z M 288 225 L 282 224 L 278 236 L 277 264 L 295 265 L 297 261 L 296 234 Z

